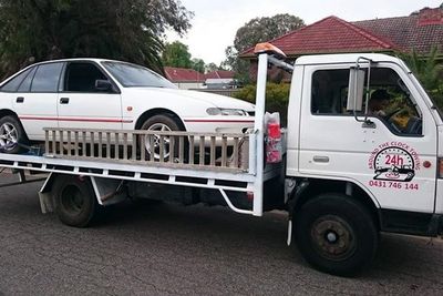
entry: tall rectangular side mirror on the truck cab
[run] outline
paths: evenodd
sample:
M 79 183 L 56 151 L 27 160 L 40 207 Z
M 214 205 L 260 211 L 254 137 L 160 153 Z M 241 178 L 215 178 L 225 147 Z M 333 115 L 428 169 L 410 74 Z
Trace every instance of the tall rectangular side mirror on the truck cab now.
M 364 70 L 351 68 L 348 86 L 348 111 L 361 111 L 363 109 Z

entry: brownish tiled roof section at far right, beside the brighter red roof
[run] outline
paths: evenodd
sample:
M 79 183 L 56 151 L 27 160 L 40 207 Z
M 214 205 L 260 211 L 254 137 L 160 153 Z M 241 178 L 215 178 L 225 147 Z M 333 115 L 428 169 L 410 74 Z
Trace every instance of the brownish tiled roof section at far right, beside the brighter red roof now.
M 443 9 L 422 9 L 409 17 L 356 21 L 352 24 L 392 40 L 403 50 L 429 53 L 433 45 L 443 52 Z

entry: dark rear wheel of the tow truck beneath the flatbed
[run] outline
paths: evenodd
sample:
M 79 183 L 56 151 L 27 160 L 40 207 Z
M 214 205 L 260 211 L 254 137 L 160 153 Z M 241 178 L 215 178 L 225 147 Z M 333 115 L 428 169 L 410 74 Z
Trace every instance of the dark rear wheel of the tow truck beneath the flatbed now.
M 52 188 L 55 213 L 69 226 L 86 227 L 100 207 L 89 177 L 59 175 Z

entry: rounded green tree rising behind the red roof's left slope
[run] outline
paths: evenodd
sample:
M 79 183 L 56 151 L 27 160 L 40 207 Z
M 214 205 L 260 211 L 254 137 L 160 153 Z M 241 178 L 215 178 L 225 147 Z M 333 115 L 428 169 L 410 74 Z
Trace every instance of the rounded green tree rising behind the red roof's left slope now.
M 223 65 L 230 68 L 237 73 L 239 80 L 247 83 L 249 81 L 249 62 L 240 60 L 238 55 L 259 42 L 269 41 L 303 25 L 302 19 L 288 13 L 251 19 L 237 30 L 234 45 L 225 50 L 226 60 Z

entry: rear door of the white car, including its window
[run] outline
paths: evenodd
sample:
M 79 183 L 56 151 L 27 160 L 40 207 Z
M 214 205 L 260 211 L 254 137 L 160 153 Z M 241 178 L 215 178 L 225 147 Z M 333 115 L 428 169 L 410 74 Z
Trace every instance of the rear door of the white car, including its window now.
M 56 101 L 62 62 L 35 65 L 29 71 L 12 99 L 30 140 L 44 140 L 43 127 L 56 127 Z

